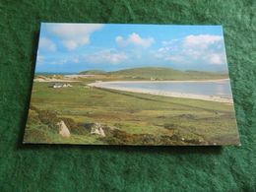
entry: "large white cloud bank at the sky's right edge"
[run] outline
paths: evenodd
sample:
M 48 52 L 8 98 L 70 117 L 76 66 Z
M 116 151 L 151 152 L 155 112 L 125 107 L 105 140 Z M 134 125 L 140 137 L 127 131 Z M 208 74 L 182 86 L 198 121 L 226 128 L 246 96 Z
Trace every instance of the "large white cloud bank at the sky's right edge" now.
M 226 64 L 221 35 L 188 35 L 183 39 L 162 41 L 155 56 L 175 64 Z

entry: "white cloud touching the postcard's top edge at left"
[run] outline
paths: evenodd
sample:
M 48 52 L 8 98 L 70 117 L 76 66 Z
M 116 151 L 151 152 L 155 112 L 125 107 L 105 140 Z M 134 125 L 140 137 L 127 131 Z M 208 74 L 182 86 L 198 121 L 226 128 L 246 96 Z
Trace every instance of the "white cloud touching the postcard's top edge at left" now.
M 68 50 L 74 50 L 90 43 L 91 34 L 102 27 L 101 24 L 53 24 L 48 26 L 48 31 L 61 38 Z

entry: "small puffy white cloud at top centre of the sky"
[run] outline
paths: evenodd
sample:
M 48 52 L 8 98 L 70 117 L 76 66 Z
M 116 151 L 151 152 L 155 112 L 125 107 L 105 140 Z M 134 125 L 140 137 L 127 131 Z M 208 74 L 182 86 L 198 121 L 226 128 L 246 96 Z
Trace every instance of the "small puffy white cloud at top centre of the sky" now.
M 142 38 L 136 32 L 129 34 L 129 36 L 125 39 L 123 36 L 116 36 L 115 41 L 119 46 L 127 46 L 129 44 L 139 45 L 143 47 L 150 47 L 155 39 L 153 37 Z

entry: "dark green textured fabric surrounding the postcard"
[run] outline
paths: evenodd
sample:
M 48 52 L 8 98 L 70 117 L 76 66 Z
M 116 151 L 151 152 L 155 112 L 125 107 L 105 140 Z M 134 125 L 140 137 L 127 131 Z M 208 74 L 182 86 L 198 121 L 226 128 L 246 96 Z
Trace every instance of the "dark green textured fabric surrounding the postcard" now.
M 256 191 L 256 1 L 0 1 L 0 191 Z M 222 24 L 241 147 L 22 145 L 40 22 Z

